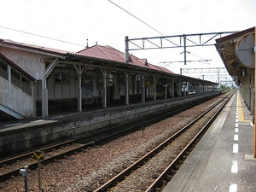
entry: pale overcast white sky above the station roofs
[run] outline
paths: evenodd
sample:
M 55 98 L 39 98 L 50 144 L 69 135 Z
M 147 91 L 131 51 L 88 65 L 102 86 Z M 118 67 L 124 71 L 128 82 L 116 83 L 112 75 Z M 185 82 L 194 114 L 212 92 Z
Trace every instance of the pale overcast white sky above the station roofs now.
M 148 38 L 205 33 L 242 31 L 256 26 L 255 0 L 112 0 L 132 15 L 153 26 L 143 24 L 108 0 L 0 0 L 0 38 L 44 47 L 79 51 L 86 46 L 110 45 L 125 51 L 125 36 Z M 16 32 L 61 39 L 73 44 Z M 84 46 L 84 47 L 83 47 Z M 215 47 L 187 49 L 188 60 L 204 62 L 160 63 L 183 61 L 183 49 L 152 49 L 132 51 L 133 55 L 167 67 L 175 73 L 180 68 L 224 67 Z

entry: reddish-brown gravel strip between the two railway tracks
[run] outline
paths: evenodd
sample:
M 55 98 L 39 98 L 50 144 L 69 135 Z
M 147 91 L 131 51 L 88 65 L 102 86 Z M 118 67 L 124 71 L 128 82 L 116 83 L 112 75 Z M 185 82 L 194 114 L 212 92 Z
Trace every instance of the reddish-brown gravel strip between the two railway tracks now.
M 181 129 L 191 119 L 218 101 L 211 101 L 178 113 L 169 119 L 150 125 L 144 131 L 136 131 L 102 146 L 87 148 L 84 152 L 74 154 L 65 160 L 43 166 L 42 186 L 44 192 L 86 191 L 106 181 L 126 166 L 146 154 L 147 151 Z M 38 191 L 38 171 L 30 172 L 31 191 Z M 0 183 L 0 192 L 24 191 L 22 177 L 14 177 Z

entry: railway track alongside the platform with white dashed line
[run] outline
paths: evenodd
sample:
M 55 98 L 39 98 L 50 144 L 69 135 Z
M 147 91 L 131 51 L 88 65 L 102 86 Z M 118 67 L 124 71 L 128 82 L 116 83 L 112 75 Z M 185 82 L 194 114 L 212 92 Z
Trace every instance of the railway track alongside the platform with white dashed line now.
M 166 180 L 171 179 L 173 172 L 186 159 L 230 97 L 231 94 L 215 103 L 175 135 L 93 191 L 159 191 Z

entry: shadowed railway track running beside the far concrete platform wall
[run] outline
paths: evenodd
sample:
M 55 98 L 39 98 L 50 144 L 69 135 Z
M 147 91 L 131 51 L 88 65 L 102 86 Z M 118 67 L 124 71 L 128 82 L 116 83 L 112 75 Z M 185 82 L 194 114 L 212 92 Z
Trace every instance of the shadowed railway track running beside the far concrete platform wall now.
M 189 106 L 173 108 L 172 112 L 166 111 L 159 113 L 157 116 L 151 115 L 144 119 L 136 119 L 125 125 L 106 127 L 101 130 L 90 132 L 84 137 L 74 138 L 63 143 L 57 143 L 47 148 L 38 148 L 44 151 L 45 158 L 41 160 L 42 165 L 46 165 L 55 160 L 66 158 L 68 155 L 78 153 L 95 144 L 106 143 L 113 138 L 123 136 L 128 132 L 143 129 L 143 127 L 152 125 L 162 119 L 166 119 L 175 113 L 180 113 L 188 108 L 192 108 L 198 103 L 193 103 Z M 33 151 L 26 154 L 20 154 L 5 160 L 0 160 L 0 182 L 3 182 L 10 177 L 15 177 L 20 174 L 20 168 L 29 166 L 30 170 L 38 167 L 38 162 L 32 157 Z

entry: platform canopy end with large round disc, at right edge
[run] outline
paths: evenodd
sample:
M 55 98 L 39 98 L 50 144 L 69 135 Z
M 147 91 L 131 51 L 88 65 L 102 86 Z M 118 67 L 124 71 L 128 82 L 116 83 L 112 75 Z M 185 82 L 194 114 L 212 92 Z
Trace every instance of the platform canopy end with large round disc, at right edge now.
M 236 84 L 254 68 L 255 27 L 216 39 L 216 49 Z

